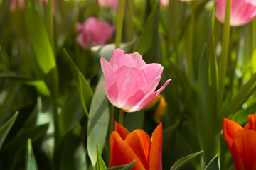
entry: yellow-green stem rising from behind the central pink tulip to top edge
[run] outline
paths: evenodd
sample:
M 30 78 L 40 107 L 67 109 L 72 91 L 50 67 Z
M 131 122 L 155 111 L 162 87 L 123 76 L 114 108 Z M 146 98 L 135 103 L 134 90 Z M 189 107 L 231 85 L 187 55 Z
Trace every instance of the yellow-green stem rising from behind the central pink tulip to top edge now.
M 120 47 L 120 43 L 122 40 L 122 23 L 124 20 L 124 2 L 125 0 L 119 1 L 119 10 L 117 13 L 117 33 L 116 33 L 116 40 L 115 40 L 116 48 Z

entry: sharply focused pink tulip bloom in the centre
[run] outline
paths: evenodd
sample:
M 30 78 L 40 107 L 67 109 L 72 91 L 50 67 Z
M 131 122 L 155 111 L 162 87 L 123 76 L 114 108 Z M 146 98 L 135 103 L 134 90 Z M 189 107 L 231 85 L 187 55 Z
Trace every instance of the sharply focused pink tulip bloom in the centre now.
M 146 64 L 138 52 L 124 54 L 123 50 L 116 49 L 110 62 L 104 58 L 100 62 L 107 98 L 112 105 L 127 112 L 148 106 L 170 81 L 155 91 L 164 67 L 156 63 Z

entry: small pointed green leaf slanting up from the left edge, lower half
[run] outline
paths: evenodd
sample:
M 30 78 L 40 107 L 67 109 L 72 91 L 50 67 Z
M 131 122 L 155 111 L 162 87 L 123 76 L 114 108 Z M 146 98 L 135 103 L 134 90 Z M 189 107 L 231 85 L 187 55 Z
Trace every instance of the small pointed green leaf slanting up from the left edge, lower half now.
M 1 146 L 4 143 L 4 140 L 6 139 L 6 136 L 8 135 L 9 131 L 11 130 L 12 125 L 14 125 L 14 122 L 16 118 L 18 117 L 18 111 L 14 113 L 14 115 L 9 118 L 9 120 L 4 123 L 4 125 L 1 125 L 0 127 L 0 149 Z

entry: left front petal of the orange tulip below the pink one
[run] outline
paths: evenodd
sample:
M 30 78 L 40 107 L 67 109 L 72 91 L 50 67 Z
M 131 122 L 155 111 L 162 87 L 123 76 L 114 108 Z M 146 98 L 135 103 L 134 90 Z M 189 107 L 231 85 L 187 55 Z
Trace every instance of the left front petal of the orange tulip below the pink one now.
M 112 132 L 115 134 L 117 132 Z M 133 152 L 132 148 L 124 142 L 119 135 L 110 135 L 110 167 L 119 166 L 124 164 L 129 164 L 135 160 L 135 164 L 132 167 L 132 170 L 145 169 L 142 162 L 140 162 L 137 155 Z

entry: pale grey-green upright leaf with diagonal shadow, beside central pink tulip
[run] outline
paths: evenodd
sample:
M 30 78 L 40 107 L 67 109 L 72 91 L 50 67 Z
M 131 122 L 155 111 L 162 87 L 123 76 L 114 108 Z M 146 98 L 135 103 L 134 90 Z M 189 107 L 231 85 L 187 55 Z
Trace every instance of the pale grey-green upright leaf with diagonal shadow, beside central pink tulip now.
M 110 119 L 109 101 L 105 92 L 105 79 L 102 75 L 92 98 L 87 125 L 87 149 L 92 165 L 97 161 L 97 146 L 100 153 L 105 145 Z

